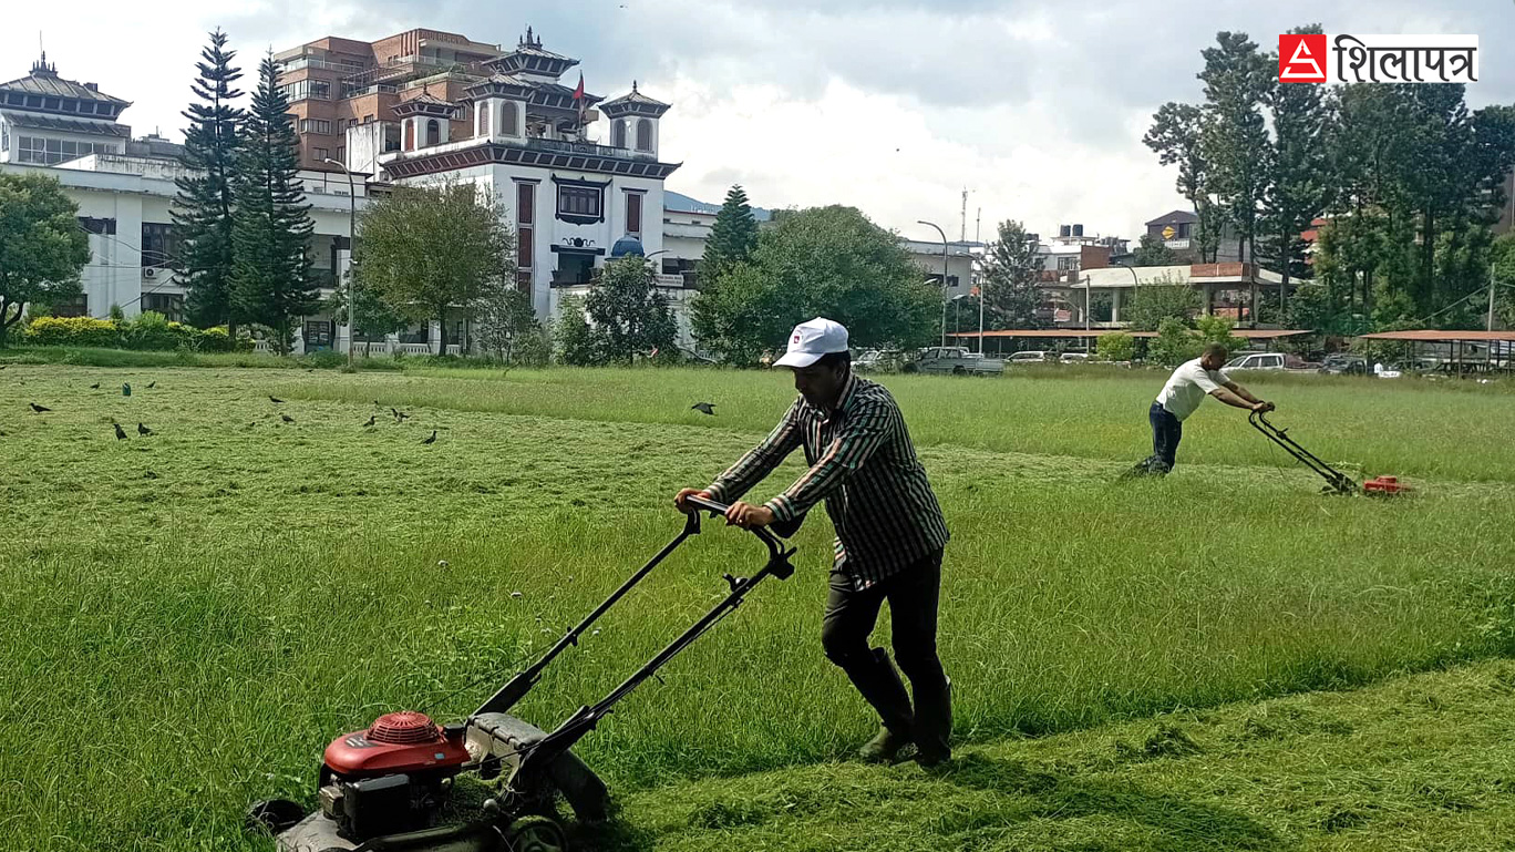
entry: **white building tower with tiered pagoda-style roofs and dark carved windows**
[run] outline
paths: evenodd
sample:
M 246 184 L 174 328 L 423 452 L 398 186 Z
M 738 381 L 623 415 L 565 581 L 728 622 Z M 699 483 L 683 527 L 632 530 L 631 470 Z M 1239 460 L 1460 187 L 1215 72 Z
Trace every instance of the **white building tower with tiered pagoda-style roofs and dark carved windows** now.
M 527 30 L 514 50 L 483 62 L 491 76 L 461 102 L 423 92 L 395 106 L 400 150 L 382 150 L 383 127 L 347 130 L 347 150 L 377 152 L 385 179 L 474 183 L 491 197 L 517 233 L 517 282 L 541 318 L 558 314 L 562 296 L 586 291 L 617 243 L 630 238 L 623 250 L 639 246 L 648 258 L 664 253 L 664 179 L 679 168 L 658 156 L 668 105 L 635 82 L 614 100 L 576 92 L 559 82 L 576 65 Z M 453 138 L 450 121 L 464 114 L 473 132 Z M 604 139 L 589 133 L 598 118 L 609 123 Z M 659 285 L 676 303 L 688 296 L 682 276 Z

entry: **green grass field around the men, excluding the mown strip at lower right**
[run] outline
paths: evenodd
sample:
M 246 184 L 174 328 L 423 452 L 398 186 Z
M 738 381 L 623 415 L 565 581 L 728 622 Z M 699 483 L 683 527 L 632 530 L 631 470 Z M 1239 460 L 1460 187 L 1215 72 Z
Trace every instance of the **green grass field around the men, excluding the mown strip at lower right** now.
M 942 655 L 956 734 L 991 761 L 970 770 L 998 775 L 992 760 L 1012 752 L 995 749 L 1026 747 L 1006 738 L 1088 731 L 1048 740 L 1077 743 L 1174 708 L 1515 650 L 1515 396 L 1256 384 L 1279 402 L 1274 420 L 1323 456 L 1410 479 L 1420 491 L 1398 502 L 1317 496 L 1317 479 L 1218 405 L 1186 424 L 1173 476 L 1117 485 L 1145 455 L 1145 400 L 1160 381 L 886 379 L 954 535 Z M 0 620 L 11 793 L 0 847 L 262 849 L 239 837 L 248 800 L 309 800 L 321 747 L 379 713 L 470 711 L 671 538 L 682 523 L 671 494 L 706 484 L 789 399 L 770 373 L 11 364 L 0 371 L 11 616 Z M 689 411 L 700 400 L 717 417 Z M 411 418 L 397 424 L 389 406 Z M 129 440 L 114 438 L 112 418 Z M 155 435 L 138 437 L 138 421 Z M 438 441 L 423 446 L 432 429 Z M 689 790 L 738 796 L 762 784 L 742 778 L 753 772 L 818 791 L 864 772 L 829 763 L 870 722 L 818 647 L 824 520 L 797 544 L 791 581 L 761 588 L 580 747 L 645 816 L 653 834 L 633 847 L 711 847 L 730 832 L 742 849 L 864 847 L 824 840 L 818 825 L 832 817 L 806 816 L 814 791 L 797 793 L 792 822 L 777 826 L 720 808 L 691 823 L 667 805 L 697 802 Z M 550 725 L 597 699 L 714 603 L 721 572 L 759 559 L 750 537 L 709 529 L 550 670 L 523 716 Z M 948 784 L 879 772 L 861 776 L 877 781 L 870 796 Z M 1121 767 L 1100 772 L 1100 784 L 1135 782 Z M 950 813 L 994 835 L 961 847 L 1023 847 L 995 846 L 1012 835 L 991 831 L 1029 813 L 1021 805 L 959 805 Z M 1215 847 L 1197 832 L 1123 835 L 1114 822 L 1101 835 L 1097 816 L 1082 840 L 1041 843 Z M 891 847 L 941 837 L 904 826 Z

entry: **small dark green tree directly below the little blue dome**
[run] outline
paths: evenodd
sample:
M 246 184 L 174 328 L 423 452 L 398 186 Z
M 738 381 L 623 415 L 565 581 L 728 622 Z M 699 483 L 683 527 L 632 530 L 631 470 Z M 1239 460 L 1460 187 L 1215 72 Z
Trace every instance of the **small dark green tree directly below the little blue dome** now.
M 645 258 L 604 264 L 589 287 L 585 312 L 601 362 L 630 364 L 636 355 L 651 352 L 671 358 L 677 349 L 679 327 Z

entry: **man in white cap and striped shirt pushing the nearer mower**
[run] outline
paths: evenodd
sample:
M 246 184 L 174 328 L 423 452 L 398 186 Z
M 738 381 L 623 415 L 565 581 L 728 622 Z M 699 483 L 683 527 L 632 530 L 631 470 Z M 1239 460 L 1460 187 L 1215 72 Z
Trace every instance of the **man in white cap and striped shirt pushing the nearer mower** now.
M 836 556 L 821 644 L 883 722 L 861 756 L 894 761 L 914 741 L 917 763 L 938 766 L 951 756 L 951 682 L 936 656 L 948 534 L 926 468 L 889 391 L 853 374 L 839 323 L 800 323 L 774 365 L 794 371 L 800 397 L 756 449 L 704 491 L 679 491 L 676 503 L 685 511 L 692 511 L 692 496 L 730 503 L 727 522 L 750 529 L 794 523 L 824 500 Z M 761 506 L 736 502 L 797 447 L 804 447 L 811 468 L 794 485 Z M 914 708 L 889 655 L 868 647 L 885 600 Z

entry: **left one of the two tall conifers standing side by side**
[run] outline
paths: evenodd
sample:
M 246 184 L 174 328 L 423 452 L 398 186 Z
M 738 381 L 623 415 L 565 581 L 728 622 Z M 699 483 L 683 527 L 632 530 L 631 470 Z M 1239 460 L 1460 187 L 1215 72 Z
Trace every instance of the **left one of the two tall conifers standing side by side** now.
M 189 293 L 189 318 L 200 326 L 226 324 L 236 338 L 236 315 L 232 311 L 232 168 L 236 153 L 236 132 L 245 112 L 232 106 L 242 92 L 232 88 L 242 71 L 232 67 L 235 50 L 226 50 L 227 36 L 211 33 L 211 44 L 200 52 L 191 91 L 198 99 L 182 115 L 189 120 L 185 130 L 185 153 L 180 162 L 189 174 L 177 179 L 174 227 L 183 238 L 183 249 L 173 258 L 177 279 Z M 162 262 L 152 259 L 152 262 Z

